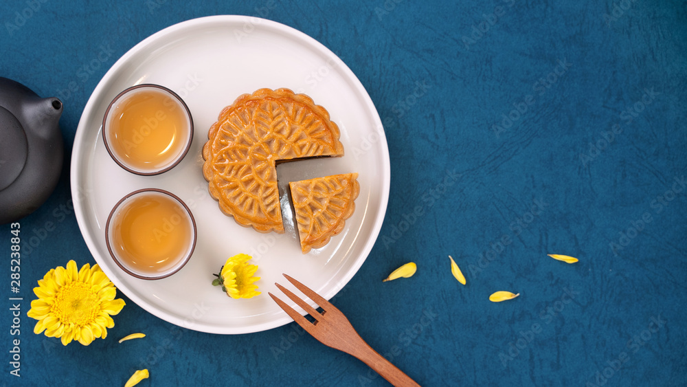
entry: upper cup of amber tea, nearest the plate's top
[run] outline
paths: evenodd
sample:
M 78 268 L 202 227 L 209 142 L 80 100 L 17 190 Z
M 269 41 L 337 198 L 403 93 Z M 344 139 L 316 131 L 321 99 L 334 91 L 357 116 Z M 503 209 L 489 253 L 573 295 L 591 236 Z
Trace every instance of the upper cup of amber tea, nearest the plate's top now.
M 152 84 L 129 87 L 110 102 L 102 139 L 112 159 L 136 175 L 177 166 L 193 139 L 193 119 L 174 91 Z

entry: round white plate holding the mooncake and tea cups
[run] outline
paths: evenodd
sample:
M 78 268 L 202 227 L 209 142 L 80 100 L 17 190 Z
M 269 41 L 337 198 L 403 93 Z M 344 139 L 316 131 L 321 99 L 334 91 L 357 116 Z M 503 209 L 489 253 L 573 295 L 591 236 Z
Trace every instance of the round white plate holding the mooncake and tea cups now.
M 102 142 L 102 116 L 117 93 L 141 83 L 177 92 L 193 115 L 188 155 L 158 176 L 120 168 Z M 207 192 L 201 148 L 220 111 L 243 93 L 286 87 L 306 93 L 341 129 L 345 155 L 286 162 L 277 167 L 284 234 L 260 234 L 225 216 Z M 128 298 L 180 327 L 210 333 L 251 333 L 291 322 L 267 295 L 289 300 L 274 283 L 295 289 L 282 273 L 331 298 L 354 276 L 372 250 L 384 219 L 390 186 L 389 150 L 370 96 L 352 71 L 315 39 L 291 27 L 248 16 L 210 16 L 166 28 L 133 47 L 95 87 L 84 109 L 71 158 L 71 192 L 79 227 L 100 267 Z M 359 173 L 356 210 L 341 234 L 321 249 L 302 254 L 288 195 L 290 180 Z M 105 245 L 107 215 L 124 195 L 161 188 L 189 206 L 198 242 L 189 263 L 162 280 L 122 272 Z M 245 253 L 259 266 L 260 296 L 234 300 L 211 285 L 229 256 Z M 305 312 L 290 302 L 296 310 Z M 311 304 L 311 305 L 314 305 Z

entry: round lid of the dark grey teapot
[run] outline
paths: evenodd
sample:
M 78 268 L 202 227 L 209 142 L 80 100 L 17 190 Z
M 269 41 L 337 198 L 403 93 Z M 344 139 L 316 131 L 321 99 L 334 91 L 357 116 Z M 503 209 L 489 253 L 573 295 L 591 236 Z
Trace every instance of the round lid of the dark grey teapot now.
M 0 106 L 0 191 L 16 180 L 26 164 L 28 143 L 21 123 Z

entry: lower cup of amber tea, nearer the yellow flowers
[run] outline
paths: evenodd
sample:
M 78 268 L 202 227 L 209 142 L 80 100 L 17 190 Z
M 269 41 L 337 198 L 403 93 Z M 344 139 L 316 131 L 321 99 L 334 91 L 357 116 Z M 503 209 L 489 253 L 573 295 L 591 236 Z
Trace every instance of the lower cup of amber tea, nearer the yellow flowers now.
M 196 222 L 179 197 L 157 188 L 123 197 L 105 225 L 107 250 L 124 272 L 144 280 L 166 278 L 189 261 Z

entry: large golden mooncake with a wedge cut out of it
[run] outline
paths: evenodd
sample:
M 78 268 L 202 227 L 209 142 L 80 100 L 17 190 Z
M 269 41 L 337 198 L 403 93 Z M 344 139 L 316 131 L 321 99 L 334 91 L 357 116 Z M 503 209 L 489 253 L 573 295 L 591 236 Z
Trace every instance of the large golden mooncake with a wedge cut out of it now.
M 339 127 L 304 94 L 259 89 L 223 109 L 203 146 L 203 176 L 225 214 L 259 232 L 284 232 L 275 162 L 343 156 Z

